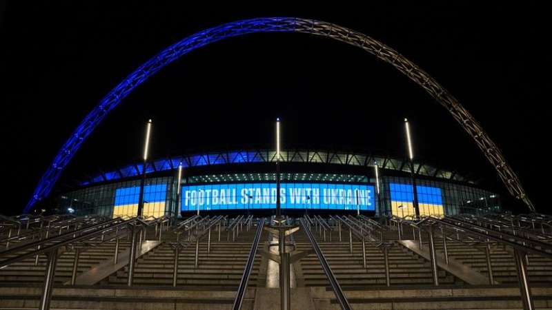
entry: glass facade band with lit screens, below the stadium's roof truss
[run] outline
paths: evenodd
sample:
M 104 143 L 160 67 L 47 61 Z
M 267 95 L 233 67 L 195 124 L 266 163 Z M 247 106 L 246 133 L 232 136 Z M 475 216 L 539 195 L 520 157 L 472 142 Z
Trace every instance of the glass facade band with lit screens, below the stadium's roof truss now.
M 253 155 L 253 154 L 252 154 Z M 237 155 L 236 155 L 237 156 Z M 309 154 L 309 156 L 313 156 Z M 383 174 L 383 173 L 382 173 Z M 179 215 L 180 210 L 273 209 L 276 205 L 275 174 L 217 174 L 185 178 L 181 205 L 177 207 L 175 178 L 147 178 L 144 216 Z M 251 174 L 257 175 L 257 174 Z M 231 176 L 231 178 L 230 178 Z M 375 195 L 375 178 L 341 178 L 342 175 L 282 174 L 281 203 L 284 209 L 348 209 L 357 204 L 363 211 L 376 209 L 375 214 L 413 216 L 411 178 L 380 175 L 380 197 Z M 314 183 L 313 183 L 314 182 Z M 435 178 L 417 178 L 417 193 L 423 215 L 442 216 L 460 212 L 483 214 L 501 211 L 500 197 L 466 183 L 452 183 Z M 75 210 L 76 215 L 100 214 L 133 216 L 137 214 L 139 180 L 92 185 L 64 194 L 59 198 L 61 211 Z M 186 205 L 186 190 L 188 205 Z

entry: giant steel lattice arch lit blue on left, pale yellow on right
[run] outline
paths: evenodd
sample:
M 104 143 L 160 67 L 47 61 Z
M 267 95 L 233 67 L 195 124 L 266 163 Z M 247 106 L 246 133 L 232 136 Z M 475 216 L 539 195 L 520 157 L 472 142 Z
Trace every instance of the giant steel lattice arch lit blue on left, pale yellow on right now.
M 25 211 L 28 212 L 34 203 L 48 196 L 59 178 L 61 171 L 68 165 L 71 158 L 75 156 L 75 152 L 77 152 L 83 141 L 86 140 L 103 118 L 114 107 L 119 105 L 135 87 L 144 83 L 148 77 L 161 70 L 165 65 L 172 63 L 172 61 L 179 59 L 180 56 L 192 50 L 222 39 L 257 32 L 301 32 L 316 34 L 355 45 L 377 56 L 378 59 L 390 63 L 397 70 L 423 87 L 428 94 L 433 96 L 440 105 L 451 113 L 453 118 L 460 123 L 462 128 L 473 138 L 475 144 L 481 149 L 491 165 L 495 167 L 510 194 L 515 196 L 515 198 L 523 200 L 531 211 L 535 211 L 531 201 L 524 192 L 519 178 L 517 178 L 510 165 L 506 163 L 506 159 L 502 155 L 502 152 L 500 152 L 500 149 L 498 149 L 491 138 L 484 132 L 481 125 L 475 121 L 475 118 L 460 105 L 454 96 L 437 83 L 435 79 L 429 76 L 429 74 L 411 61 L 408 61 L 408 59 L 404 58 L 404 56 L 397 51 L 365 34 L 333 23 L 293 17 L 248 19 L 219 25 L 197 32 L 169 46 L 152 57 L 152 59 L 146 61 L 146 63 L 128 75 L 126 79 L 111 90 L 83 121 L 81 121 L 75 131 L 72 132 L 71 136 L 55 156 L 52 164 L 48 167 L 41 180 L 39 180 L 39 184 L 26 205 Z

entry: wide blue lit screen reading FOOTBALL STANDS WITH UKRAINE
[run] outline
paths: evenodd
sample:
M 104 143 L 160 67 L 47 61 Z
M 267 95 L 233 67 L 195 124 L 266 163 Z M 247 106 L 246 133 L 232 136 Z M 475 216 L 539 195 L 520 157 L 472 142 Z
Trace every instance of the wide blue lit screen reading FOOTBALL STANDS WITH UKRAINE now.
M 284 209 L 374 210 L 372 185 L 281 183 Z M 183 186 L 181 210 L 273 209 L 276 183 Z

